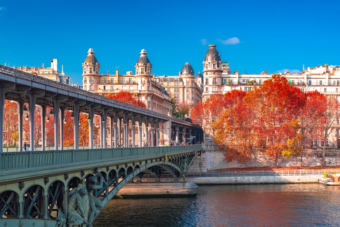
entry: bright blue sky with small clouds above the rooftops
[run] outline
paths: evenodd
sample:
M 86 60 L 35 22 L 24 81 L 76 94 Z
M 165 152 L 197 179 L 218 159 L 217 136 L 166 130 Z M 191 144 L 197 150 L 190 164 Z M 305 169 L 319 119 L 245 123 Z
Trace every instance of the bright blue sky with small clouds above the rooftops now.
M 0 64 L 64 65 L 73 83 L 93 48 L 101 72 L 134 71 L 146 49 L 158 75 L 203 69 L 209 44 L 232 72 L 340 65 L 338 3 L 328 1 L 0 1 Z M 4 31 L 7 30 L 7 31 Z M 267 69 L 268 70 L 268 69 Z

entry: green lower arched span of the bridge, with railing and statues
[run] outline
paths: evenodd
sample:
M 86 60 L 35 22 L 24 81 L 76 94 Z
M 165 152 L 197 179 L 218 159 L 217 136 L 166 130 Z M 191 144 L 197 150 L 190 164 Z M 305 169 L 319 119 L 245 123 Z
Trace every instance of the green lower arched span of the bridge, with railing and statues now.
M 201 150 L 186 145 L 0 153 L 0 225 L 91 226 L 133 178 L 170 174 L 178 182 Z

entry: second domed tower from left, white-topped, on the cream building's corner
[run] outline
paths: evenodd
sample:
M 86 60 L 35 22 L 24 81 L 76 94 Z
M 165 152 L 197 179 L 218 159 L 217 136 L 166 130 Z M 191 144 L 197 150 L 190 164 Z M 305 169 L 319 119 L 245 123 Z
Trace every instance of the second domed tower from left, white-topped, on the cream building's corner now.
M 147 52 L 145 49 L 142 49 L 140 52 L 140 56 L 135 64 L 136 68 L 136 81 L 138 82 L 138 86 L 151 86 L 152 79 L 152 65 L 150 63 L 149 58 L 147 57 Z M 146 88 L 146 87 L 145 87 Z M 140 90 L 143 90 L 139 87 Z

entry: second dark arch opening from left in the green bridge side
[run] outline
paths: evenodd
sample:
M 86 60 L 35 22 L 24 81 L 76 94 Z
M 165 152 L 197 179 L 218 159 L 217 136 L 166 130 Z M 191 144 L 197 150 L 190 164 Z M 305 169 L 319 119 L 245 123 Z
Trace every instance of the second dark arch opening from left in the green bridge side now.
M 45 196 L 44 187 L 41 185 L 30 186 L 23 194 L 23 217 L 44 218 Z

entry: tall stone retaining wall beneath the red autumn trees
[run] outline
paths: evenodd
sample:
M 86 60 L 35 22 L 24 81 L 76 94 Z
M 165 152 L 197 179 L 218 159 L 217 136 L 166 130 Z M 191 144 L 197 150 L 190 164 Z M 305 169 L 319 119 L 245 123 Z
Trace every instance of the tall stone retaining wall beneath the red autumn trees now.
M 214 144 L 204 144 L 201 156 L 195 158 L 188 172 L 205 172 L 225 168 L 249 168 L 249 167 L 268 167 L 273 165 L 273 159 L 266 156 L 263 151 L 253 151 L 250 162 L 227 162 L 223 161 L 223 150 L 218 149 Z M 316 149 L 306 149 L 302 155 L 302 166 L 321 165 L 322 147 Z M 326 147 L 325 153 L 326 165 L 340 165 L 340 149 L 332 146 Z M 297 157 L 297 165 L 300 166 L 301 156 Z M 283 157 L 277 159 L 278 167 L 294 167 L 295 157 L 285 160 Z

